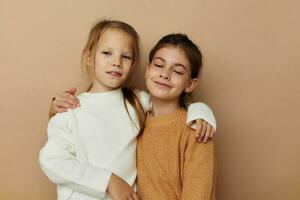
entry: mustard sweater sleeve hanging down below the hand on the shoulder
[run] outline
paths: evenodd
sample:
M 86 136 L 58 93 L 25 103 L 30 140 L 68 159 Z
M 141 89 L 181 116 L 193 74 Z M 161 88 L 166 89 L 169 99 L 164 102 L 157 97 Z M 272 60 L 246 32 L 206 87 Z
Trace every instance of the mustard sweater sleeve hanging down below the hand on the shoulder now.
M 199 144 L 191 136 L 187 133 L 181 200 L 212 200 L 215 181 L 213 141 Z

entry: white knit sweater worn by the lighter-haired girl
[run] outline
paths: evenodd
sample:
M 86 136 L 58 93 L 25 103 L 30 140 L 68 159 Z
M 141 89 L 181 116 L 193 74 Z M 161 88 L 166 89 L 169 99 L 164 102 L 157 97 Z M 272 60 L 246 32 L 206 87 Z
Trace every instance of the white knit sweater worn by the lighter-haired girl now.
M 139 95 L 144 109 L 149 110 L 149 94 Z M 138 129 L 126 112 L 121 89 L 83 93 L 78 98 L 79 108 L 59 113 L 49 121 L 48 142 L 40 152 L 40 165 L 57 184 L 58 200 L 109 200 L 106 190 L 112 173 L 131 186 L 135 184 Z M 189 120 L 202 118 L 216 128 L 208 106 L 192 105 Z M 129 104 L 128 110 L 138 126 Z

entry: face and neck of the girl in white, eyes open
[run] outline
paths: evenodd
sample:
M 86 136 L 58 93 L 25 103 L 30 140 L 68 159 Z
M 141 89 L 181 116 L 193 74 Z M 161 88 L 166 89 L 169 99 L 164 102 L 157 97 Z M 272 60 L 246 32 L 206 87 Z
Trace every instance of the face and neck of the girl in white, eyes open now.
M 128 78 L 133 64 L 133 40 L 126 32 L 110 28 L 99 39 L 94 57 L 94 80 L 91 91 L 119 88 Z

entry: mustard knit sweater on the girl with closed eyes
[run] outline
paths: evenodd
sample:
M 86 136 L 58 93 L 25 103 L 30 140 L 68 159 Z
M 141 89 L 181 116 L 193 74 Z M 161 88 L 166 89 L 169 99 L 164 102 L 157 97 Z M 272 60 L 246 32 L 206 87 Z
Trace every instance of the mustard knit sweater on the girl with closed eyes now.
M 186 111 L 148 117 L 138 137 L 137 190 L 142 200 L 214 199 L 213 142 L 197 143 Z

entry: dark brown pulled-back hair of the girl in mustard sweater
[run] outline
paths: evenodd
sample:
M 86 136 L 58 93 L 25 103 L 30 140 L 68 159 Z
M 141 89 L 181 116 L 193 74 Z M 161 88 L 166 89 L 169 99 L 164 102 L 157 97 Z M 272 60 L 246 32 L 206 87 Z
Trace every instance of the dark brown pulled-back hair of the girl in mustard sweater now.
M 157 44 L 151 49 L 149 54 L 149 63 L 152 62 L 152 59 L 155 53 L 166 46 L 174 46 L 181 48 L 191 65 L 191 78 L 197 78 L 200 74 L 202 68 L 202 54 L 197 45 L 191 41 L 187 35 L 181 33 L 168 34 L 162 37 Z M 179 104 L 181 107 L 186 107 L 187 93 L 182 92 Z

